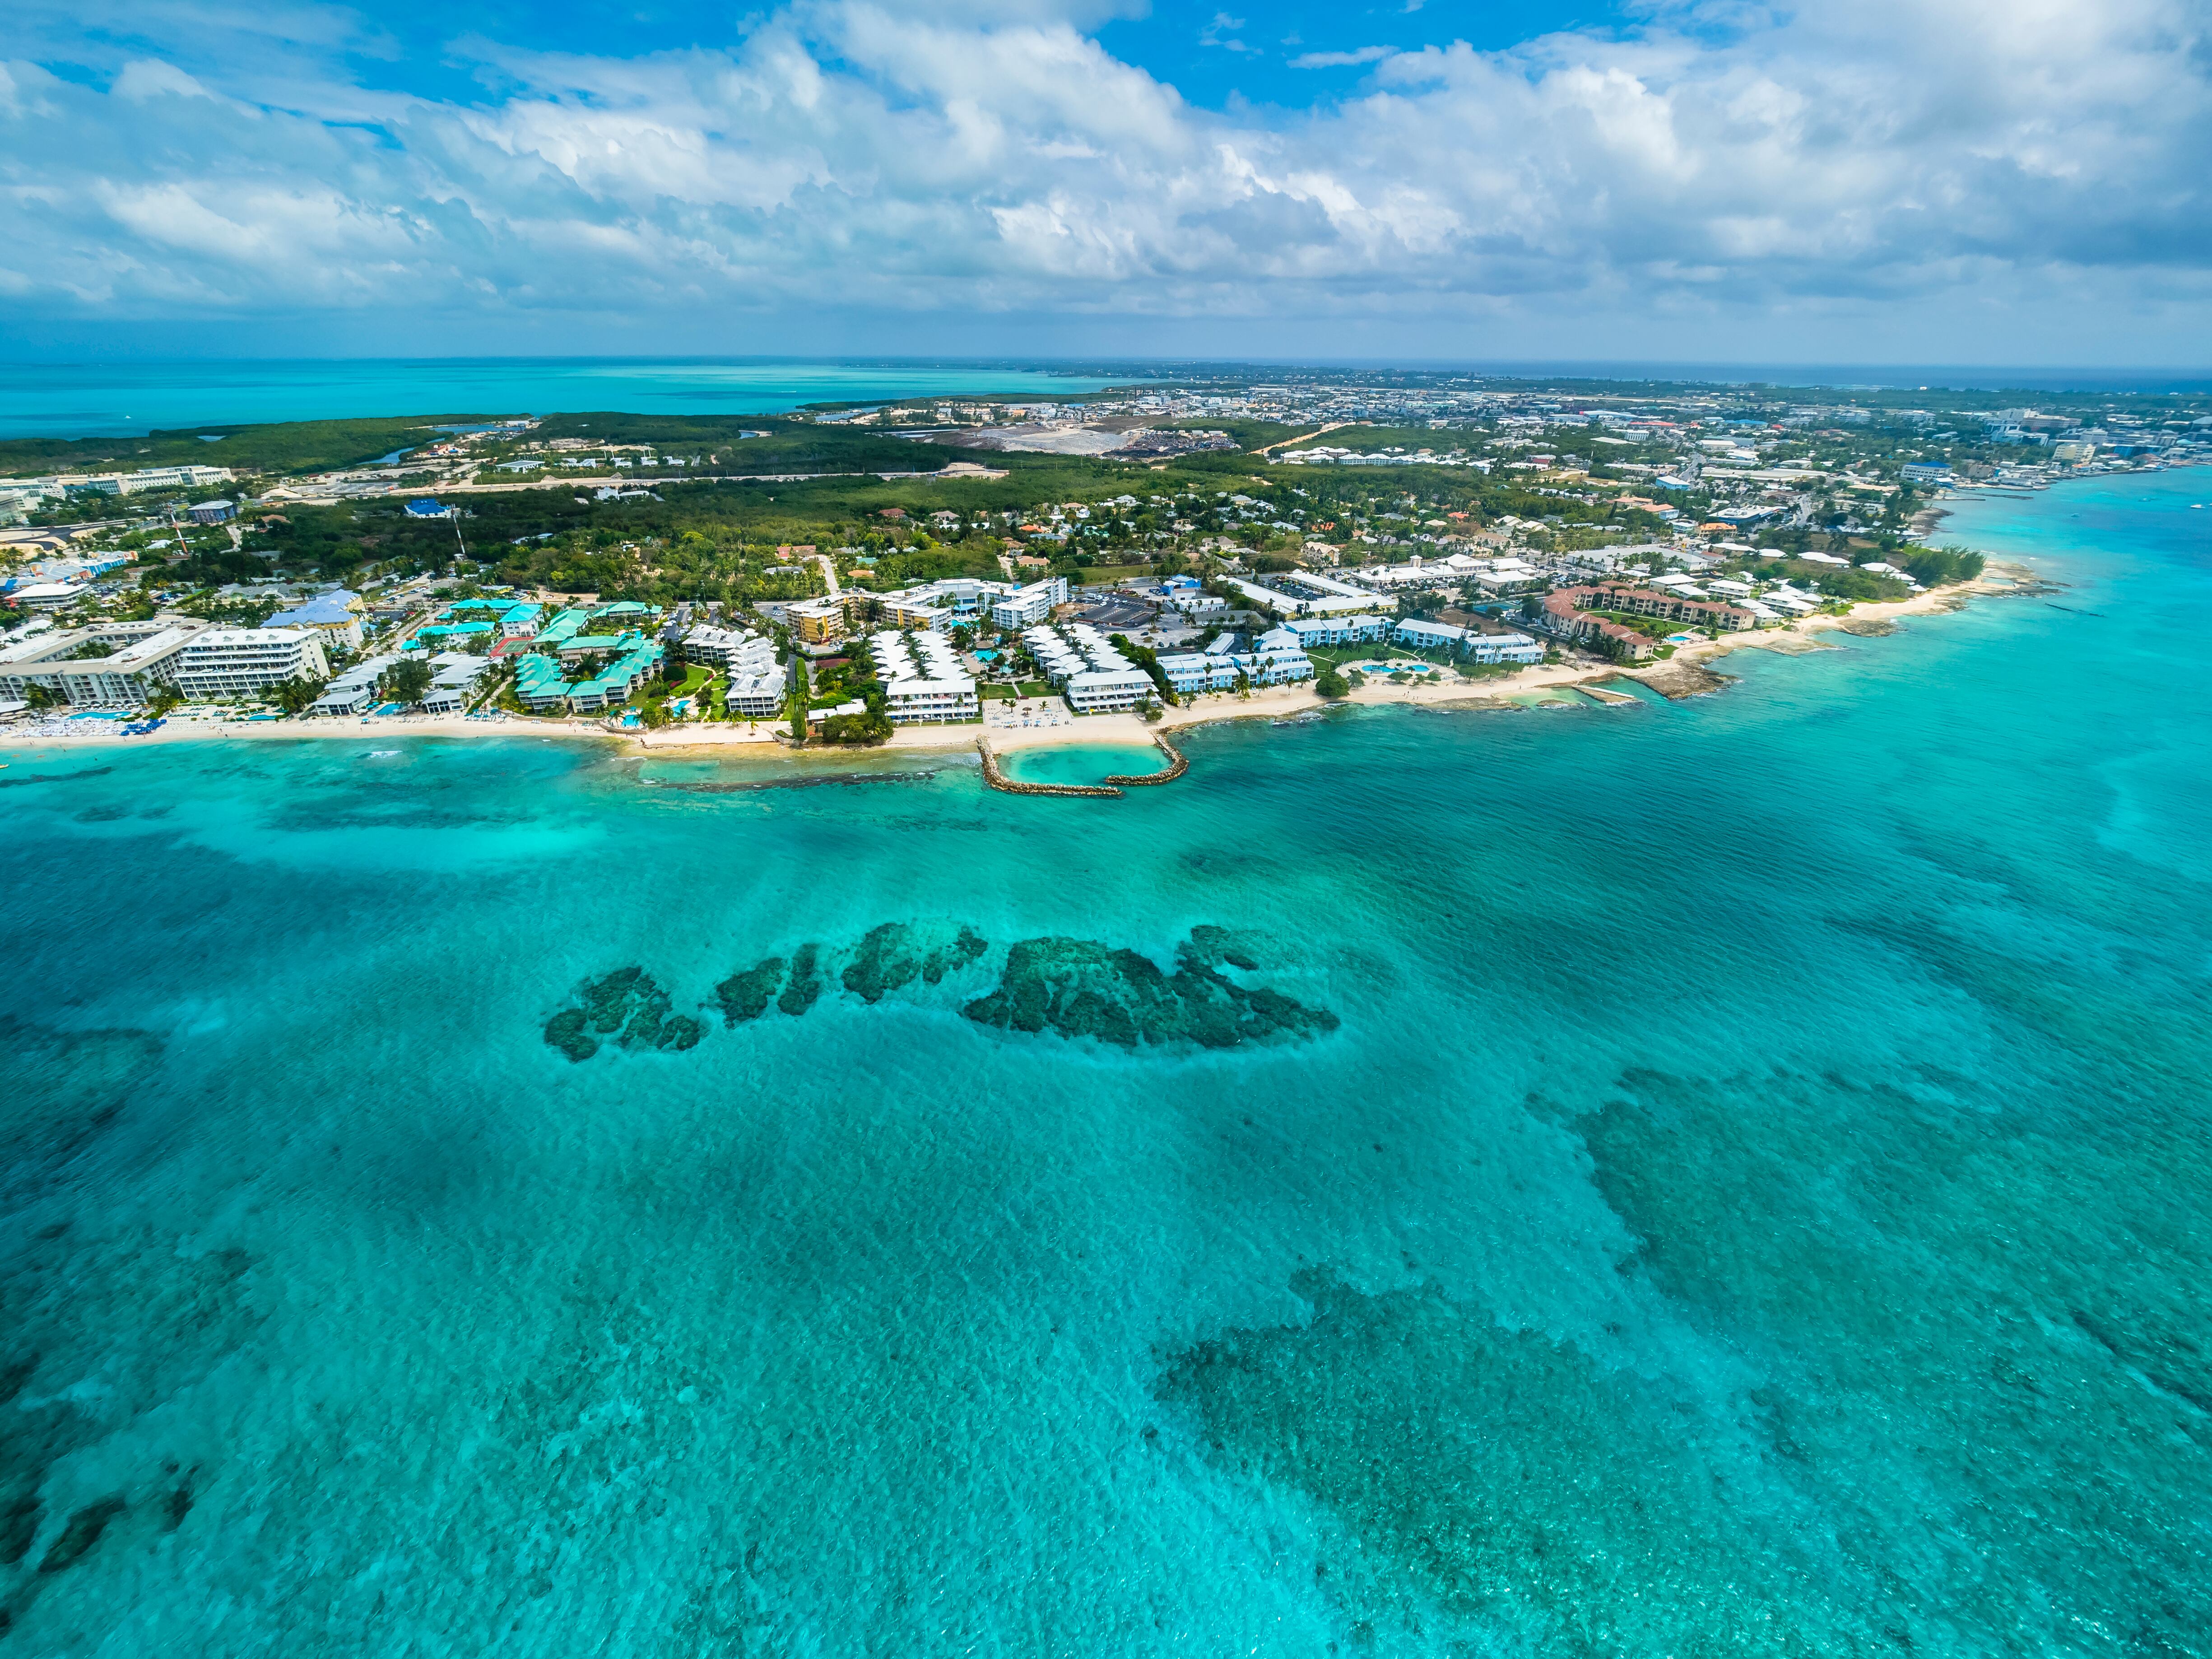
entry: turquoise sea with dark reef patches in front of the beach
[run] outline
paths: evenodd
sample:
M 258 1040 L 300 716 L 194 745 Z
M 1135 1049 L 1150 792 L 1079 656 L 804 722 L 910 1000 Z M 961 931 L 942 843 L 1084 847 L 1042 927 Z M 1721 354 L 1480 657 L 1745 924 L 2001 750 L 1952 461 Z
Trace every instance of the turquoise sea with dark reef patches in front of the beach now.
M 2212 1652 L 2201 500 L 1124 801 L 0 754 L 0 1644 Z

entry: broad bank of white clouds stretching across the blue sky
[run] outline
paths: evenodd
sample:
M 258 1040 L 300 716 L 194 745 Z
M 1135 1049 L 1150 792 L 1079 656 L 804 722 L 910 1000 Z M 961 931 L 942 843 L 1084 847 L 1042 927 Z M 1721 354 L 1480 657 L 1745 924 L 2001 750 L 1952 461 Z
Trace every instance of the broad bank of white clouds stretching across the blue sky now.
M 1307 53 L 1376 82 L 1267 119 L 1117 62 L 1086 33 L 1108 13 L 821 0 L 723 49 L 473 42 L 495 91 L 471 102 L 349 80 L 347 18 L 234 71 L 164 44 L 108 93 L 15 64 L 0 113 L 42 117 L 0 157 L 0 285 L 55 314 L 721 301 L 1714 341 L 1918 312 L 2002 338 L 2212 288 L 2192 0 L 1661 9 L 1504 53 Z

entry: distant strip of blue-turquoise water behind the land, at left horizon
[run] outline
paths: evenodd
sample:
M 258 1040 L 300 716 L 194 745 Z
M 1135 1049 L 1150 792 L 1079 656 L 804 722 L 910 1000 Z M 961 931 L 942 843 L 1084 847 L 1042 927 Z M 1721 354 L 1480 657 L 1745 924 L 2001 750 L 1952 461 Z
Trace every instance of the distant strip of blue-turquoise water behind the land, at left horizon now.
M 1141 374 L 1141 372 L 1139 372 Z M 1126 380 L 960 361 L 257 358 L 0 363 L 0 438 L 113 438 L 226 420 L 414 414 L 783 414 L 911 396 L 1057 398 Z

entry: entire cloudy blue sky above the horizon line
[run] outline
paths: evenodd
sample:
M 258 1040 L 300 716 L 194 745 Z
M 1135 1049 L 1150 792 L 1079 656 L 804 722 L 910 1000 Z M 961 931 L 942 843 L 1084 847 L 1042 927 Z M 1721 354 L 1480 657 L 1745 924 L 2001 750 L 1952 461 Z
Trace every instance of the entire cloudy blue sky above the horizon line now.
M 2212 0 L 13 0 L 0 358 L 2212 365 Z

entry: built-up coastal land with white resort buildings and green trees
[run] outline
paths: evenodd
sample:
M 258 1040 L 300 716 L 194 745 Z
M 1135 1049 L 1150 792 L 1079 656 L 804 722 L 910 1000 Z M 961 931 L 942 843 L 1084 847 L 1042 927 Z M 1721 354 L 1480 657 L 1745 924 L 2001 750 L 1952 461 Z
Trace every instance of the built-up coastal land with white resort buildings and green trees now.
M 2199 403 L 2090 403 L 1312 374 L 190 434 L 210 462 L 0 478 L 0 721 L 834 750 L 1601 703 L 1975 582 L 1951 495 L 2212 458 Z

